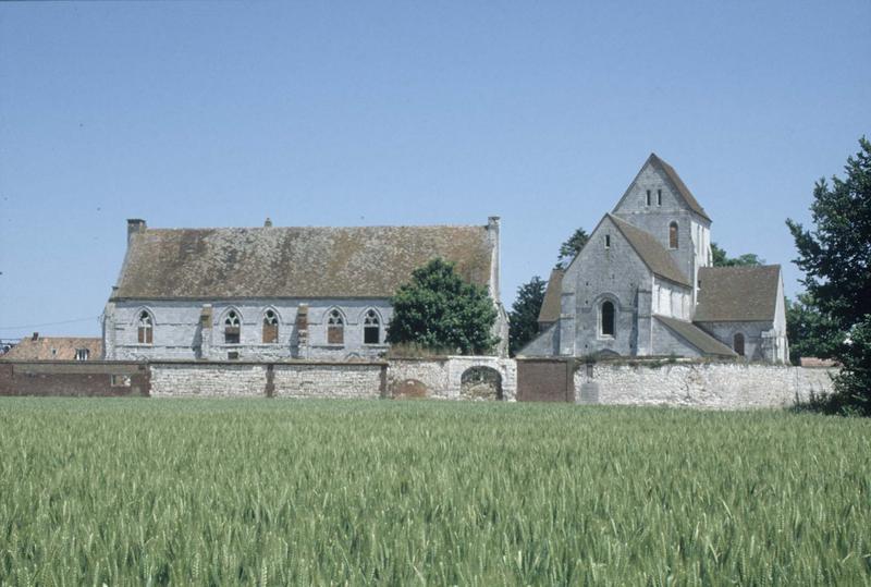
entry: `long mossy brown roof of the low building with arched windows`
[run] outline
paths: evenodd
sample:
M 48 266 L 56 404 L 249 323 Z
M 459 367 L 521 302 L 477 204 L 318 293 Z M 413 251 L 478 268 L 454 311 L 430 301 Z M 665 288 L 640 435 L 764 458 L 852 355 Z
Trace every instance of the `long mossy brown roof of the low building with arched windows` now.
M 432 258 L 487 286 L 487 227 L 144 229 L 112 299 L 389 297 Z

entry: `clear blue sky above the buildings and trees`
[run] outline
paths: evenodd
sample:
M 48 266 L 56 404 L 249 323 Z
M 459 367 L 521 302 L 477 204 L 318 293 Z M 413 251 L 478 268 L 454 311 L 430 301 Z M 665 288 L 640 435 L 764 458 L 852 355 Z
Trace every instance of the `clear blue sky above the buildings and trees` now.
M 499 215 L 510 305 L 651 151 L 795 294 L 784 220 L 871 135 L 870 32 L 867 0 L 0 4 L 0 338 L 98 335 L 132 217 Z

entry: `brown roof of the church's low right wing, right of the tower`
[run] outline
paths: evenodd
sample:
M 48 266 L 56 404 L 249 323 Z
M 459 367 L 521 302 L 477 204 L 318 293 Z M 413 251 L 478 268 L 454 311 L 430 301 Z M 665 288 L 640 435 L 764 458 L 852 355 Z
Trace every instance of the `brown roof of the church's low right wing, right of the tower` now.
M 699 269 L 696 322 L 772 321 L 777 307 L 781 266 Z

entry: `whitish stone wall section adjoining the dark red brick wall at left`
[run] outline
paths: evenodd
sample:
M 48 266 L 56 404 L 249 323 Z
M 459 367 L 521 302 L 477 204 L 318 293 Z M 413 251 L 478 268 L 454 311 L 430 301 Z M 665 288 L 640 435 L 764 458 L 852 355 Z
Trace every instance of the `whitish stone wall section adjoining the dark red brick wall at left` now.
M 266 364 L 152 363 L 152 398 L 262 398 Z

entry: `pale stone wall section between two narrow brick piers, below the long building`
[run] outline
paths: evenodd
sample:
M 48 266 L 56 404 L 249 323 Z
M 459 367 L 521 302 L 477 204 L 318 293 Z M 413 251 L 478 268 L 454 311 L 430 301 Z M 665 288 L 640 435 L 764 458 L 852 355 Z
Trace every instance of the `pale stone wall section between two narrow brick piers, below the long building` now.
M 275 364 L 275 398 L 380 398 L 381 364 Z

